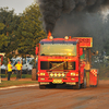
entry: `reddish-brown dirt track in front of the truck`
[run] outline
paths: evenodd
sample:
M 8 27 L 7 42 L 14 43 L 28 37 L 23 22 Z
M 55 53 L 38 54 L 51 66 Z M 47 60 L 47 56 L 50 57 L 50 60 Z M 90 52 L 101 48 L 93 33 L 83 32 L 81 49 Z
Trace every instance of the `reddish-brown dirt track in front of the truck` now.
M 78 90 L 69 86 L 0 90 L 0 109 L 109 109 L 109 81 Z

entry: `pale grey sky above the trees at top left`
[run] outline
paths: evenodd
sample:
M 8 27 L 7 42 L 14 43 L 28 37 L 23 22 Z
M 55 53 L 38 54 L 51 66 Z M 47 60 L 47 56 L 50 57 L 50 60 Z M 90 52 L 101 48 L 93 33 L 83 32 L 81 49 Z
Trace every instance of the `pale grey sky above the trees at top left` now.
M 0 0 L 0 8 L 8 7 L 9 10 L 14 9 L 16 14 L 23 13 L 25 8 L 34 3 L 35 0 Z

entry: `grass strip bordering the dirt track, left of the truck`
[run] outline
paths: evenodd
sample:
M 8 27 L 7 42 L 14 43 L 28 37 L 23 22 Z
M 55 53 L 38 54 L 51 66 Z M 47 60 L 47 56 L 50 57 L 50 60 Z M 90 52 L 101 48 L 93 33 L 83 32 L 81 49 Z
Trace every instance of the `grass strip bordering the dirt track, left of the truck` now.
M 19 85 L 26 85 L 26 84 L 37 84 L 37 81 L 2 81 L 0 83 L 0 87 L 8 87 L 8 86 L 19 86 Z

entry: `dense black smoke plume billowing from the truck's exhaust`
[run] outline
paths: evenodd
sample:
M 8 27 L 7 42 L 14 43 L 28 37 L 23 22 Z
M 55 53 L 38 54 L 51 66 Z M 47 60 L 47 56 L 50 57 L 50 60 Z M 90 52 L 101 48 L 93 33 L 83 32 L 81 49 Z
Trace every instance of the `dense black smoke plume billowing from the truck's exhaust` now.
M 109 7 L 109 0 L 38 0 L 45 29 L 53 32 L 64 13 L 97 13 Z

